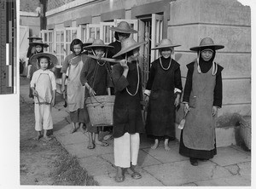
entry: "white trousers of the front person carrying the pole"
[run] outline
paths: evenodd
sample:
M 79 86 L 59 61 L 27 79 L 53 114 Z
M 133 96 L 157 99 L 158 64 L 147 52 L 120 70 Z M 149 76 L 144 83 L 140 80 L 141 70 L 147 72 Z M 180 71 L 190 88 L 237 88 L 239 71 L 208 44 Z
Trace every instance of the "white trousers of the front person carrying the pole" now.
M 137 165 L 137 156 L 140 146 L 140 135 L 125 133 L 113 139 L 114 165 L 121 168 L 130 168 Z

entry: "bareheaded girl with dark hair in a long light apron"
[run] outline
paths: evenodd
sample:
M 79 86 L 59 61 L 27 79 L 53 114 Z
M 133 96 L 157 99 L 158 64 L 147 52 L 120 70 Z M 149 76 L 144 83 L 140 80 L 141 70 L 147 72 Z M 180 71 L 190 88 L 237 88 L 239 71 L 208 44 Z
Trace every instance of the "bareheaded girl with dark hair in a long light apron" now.
M 80 72 L 86 60 L 86 55 L 81 54 L 82 46 L 81 40 L 74 39 L 70 44 L 73 54 L 67 55 L 61 67 L 61 91 L 63 93 L 66 93 L 65 82 L 67 78 L 67 107 L 72 121 L 71 134 L 79 129 L 79 127 L 83 129 L 85 123 L 84 87 L 80 83 Z

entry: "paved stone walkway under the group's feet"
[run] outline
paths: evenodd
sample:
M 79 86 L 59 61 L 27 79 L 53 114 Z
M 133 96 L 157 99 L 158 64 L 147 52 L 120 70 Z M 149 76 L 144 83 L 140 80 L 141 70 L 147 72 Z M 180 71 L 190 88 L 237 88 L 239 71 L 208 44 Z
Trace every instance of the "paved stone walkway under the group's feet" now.
M 20 96 L 28 102 L 28 86 L 20 87 Z M 67 108 L 61 95 L 57 94 L 57 104 L 52 110 L 54 135 L 67 152 L 79 158 L 81 167 L 93 175 L 101 186 L 251 186 L 251 152 L 239 146 L 218 147 L 217 155 L 207 162 L 199 162 L 197 167 L 189 163 L 189 158 L 178 153 L 178 142 L 170 142 L 171 151 L 166 152 L 163 143 L 152 150 L 151 140 L 141 136 L 137 171 L 143 175 L 133 180 L 125 174 L 125 181 L 114 181 L 113 140 L 109 146 L 87 149 L 88 133 L 77 131 L 69 134 L 71 128 Z

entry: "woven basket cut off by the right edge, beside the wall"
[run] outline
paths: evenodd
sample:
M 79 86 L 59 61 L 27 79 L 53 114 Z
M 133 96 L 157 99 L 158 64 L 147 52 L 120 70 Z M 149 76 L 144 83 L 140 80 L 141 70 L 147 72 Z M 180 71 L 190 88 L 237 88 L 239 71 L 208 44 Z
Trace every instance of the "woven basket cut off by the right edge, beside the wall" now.
M 241 138 L 244 140 L 245 145 L 249 150 L 251 150 L 252 142 L 252 127 L 251 127 L 251 117 L 243 117 L 243 120 L 240 122 L 241 127 Z

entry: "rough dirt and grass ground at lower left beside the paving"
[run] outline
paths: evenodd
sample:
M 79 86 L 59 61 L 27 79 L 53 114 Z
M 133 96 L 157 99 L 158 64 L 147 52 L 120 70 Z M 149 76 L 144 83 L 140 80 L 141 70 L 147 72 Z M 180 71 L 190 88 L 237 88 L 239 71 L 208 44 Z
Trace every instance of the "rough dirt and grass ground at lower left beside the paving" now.
M 28 82 L 20 77 L 27 89 Z M 20 96 L 20 185 L 98 185 L 53 135 L 49 141 L 33 140 L 36 134 L 33 104 Z

